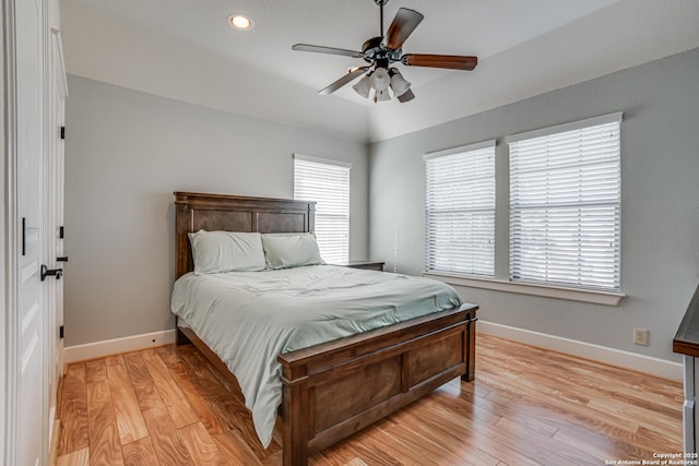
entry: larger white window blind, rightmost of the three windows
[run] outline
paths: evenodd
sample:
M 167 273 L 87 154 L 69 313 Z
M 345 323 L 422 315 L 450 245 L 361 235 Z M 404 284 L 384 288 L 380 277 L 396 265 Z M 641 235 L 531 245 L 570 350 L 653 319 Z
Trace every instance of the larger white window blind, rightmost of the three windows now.
M 507 139 L 510 279 L 618 291 L 621 113 Z

